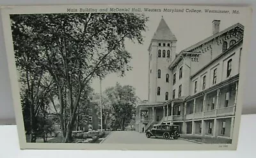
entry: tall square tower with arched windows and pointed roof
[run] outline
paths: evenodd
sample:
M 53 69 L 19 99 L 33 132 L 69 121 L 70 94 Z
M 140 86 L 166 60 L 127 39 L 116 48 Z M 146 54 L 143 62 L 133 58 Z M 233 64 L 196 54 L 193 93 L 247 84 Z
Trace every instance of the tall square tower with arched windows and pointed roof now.
M 148 47 L 148 101 L 172 99 L 173 74 L 168 68 L 176 56 L 177 39 L 163 17 Z

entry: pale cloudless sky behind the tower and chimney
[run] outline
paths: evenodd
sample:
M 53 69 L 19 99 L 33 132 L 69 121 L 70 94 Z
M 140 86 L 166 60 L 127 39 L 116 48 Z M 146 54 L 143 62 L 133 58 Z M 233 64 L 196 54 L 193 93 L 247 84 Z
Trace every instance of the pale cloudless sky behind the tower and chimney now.
M 132 70 L 125 72 L 124 77 L 118 77 L 118 74 L 109 74 L 102 80 L 102 91 L 106 88 L 115 86 L 116 82 L 121 85 L 131 85 L 136 88 L 136 95 L 141 100 L 148 100 L 148 46 L 157 26 L 163 16 L 170 30 L 177 38 L 176 53 L 183 49 L 204 40 L 212 35 L 212 20 L 218 19 L 220 22 L 220 31 L 226 29 L 237 22 L 244 24 L 246 18 L 243 14 L 221 14 L 221 13 L 147 13 L 149 17 L 147 22 L 147 31 L 143 33 L 143 45 L 125 41 L 125 49 L 131 53 L 132 59 L 129 63 Z M 100 93 L 99 79 L 93 79 L 92 88 L 96 93 Z

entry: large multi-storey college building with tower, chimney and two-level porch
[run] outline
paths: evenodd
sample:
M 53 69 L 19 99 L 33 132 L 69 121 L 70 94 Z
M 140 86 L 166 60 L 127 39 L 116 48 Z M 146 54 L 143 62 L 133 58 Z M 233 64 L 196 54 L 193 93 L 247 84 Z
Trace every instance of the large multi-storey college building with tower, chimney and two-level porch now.
M 244 26 L 220 31 L 177 54 L 177 38 L 161 19 L 149 52 L 148 102 L 137 106 L 136 130 L 180 125 L 182 134 L 232 139 Z

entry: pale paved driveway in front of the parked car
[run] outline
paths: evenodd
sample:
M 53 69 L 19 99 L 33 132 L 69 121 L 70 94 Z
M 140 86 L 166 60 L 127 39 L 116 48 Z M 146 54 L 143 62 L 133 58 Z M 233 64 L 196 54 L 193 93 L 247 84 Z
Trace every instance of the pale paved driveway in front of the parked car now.
M 145 133 L 136 131 L 113 131 L 102 143 L 119 144 L 194 144 L 182 139 L 147 138 Z

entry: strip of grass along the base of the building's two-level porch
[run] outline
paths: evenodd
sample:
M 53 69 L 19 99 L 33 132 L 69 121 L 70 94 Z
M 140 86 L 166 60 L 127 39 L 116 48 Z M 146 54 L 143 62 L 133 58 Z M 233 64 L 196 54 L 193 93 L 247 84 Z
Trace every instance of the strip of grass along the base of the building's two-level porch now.
M 199 143 L 205 144 L 231 144 L 232 139 L 227 138 L 209 138 L 209 137 L 200 137 L 200 136 L 181 136 L 181 138 L 189 139 L 191 141 L 196 141 Z

